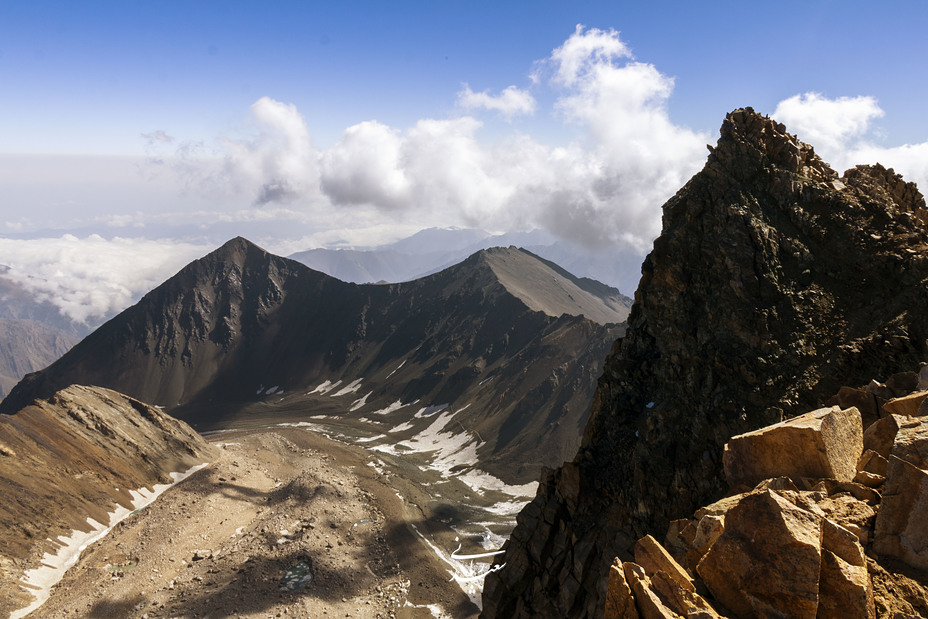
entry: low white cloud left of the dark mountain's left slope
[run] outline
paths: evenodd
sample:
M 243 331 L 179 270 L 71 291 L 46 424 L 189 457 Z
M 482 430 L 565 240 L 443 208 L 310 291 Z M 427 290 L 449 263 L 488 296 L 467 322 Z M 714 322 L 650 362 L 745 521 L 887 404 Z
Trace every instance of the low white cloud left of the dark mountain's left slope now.
M 4 277 L 49 301 L 62 315 L 96 324 L 135 301 L 213 247 L 139 238 L 0 238 Z

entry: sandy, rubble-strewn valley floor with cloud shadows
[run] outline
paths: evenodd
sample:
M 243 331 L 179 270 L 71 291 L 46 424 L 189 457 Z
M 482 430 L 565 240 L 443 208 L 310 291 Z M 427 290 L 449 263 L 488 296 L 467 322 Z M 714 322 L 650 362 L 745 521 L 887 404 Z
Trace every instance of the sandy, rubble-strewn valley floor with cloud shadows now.
M 428 523 L 397 492 L 414 489 L 360 448 L 290 428 L 211 438 L 218 461 L 84 551 L 30 617 L 477 615 L 411 530 Z

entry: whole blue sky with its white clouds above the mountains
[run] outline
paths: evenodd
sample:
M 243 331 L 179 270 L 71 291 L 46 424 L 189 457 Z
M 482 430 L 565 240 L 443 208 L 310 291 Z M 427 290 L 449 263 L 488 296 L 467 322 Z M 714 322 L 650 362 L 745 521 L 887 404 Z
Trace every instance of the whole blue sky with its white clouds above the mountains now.
M 643 256 L 727 112 L 928 186 L 928 3 L 6 2 L 0 264 L 77 320 L 243 235 Z

